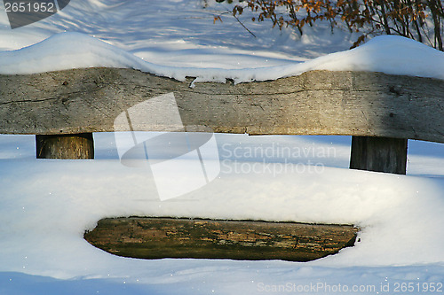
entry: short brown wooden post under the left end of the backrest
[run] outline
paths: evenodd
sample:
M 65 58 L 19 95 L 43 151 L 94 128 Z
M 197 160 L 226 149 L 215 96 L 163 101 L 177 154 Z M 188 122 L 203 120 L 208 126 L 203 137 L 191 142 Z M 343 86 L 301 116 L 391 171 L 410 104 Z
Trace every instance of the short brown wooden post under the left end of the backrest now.
M 92 133 L 36 136 L 37 159 L 94 159 Z

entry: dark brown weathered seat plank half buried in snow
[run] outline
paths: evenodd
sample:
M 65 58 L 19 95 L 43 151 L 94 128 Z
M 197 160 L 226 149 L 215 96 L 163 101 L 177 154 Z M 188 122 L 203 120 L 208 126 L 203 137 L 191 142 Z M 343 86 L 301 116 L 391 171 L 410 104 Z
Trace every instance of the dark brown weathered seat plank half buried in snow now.
M 357 231 L 345 225 L 133 217 L 100 220 L 84 238 L 133 258 L 308 261 L 353 246 Z

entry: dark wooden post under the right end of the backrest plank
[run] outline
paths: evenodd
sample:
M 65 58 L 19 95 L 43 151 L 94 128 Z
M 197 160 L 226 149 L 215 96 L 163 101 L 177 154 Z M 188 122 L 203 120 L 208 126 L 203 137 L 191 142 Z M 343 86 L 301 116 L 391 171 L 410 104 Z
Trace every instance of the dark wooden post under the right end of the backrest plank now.
M 352 136 L 350 168 L 406 174 L 407 139 Z

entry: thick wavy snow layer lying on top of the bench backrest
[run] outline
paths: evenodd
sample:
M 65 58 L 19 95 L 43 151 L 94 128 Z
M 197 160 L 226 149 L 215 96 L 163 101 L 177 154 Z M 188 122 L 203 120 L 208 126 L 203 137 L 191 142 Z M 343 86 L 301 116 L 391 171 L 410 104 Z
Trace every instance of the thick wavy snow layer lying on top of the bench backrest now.
M 215 58 L 218 58 L 215 56 Z M 371 71 L 444 79 L 444 52 L 408 38 L 378 36 L 358 48 L 284 66 L 222 69 L 162 66 L 81 33 L 60 33 L 20 50 L 0 52 L 0 74 L 37 74 L 85 67 L 134 68 L 184 81 L 252 82 L 275 80 L 310 70 Z

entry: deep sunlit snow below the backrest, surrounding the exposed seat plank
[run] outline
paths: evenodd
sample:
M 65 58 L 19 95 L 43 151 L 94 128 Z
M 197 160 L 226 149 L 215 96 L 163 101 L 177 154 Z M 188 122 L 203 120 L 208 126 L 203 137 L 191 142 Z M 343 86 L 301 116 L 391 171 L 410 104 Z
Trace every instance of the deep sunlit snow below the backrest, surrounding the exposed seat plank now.
M 424 173 L 424 163 L 415 154 L 424 156 L 430 149 L 426 143 L 412 144 L 417 147 L 409 157 L 410 175 L 403 176 L 345 169 L 350 149 L 346 137 L 217 135 L 221 161 L 226 165 L 218 179 L 201 190 L 163 202 L 157 198 L 152 175 L 143 168 L 125 167 L 115 157 L 113 134 L 95 135 L 98 159 L 61 163 L 31 159 L 34 138 L 18 137 L 19 151 L 28 146 L 28 154 L 16 152 L 16 159 L 2 160 L 0 177 L 0 269 L 4 272 L 0 277 L 18 282 L 5 284 L 11 293 L 22 282 L 44 286 L 42 293 L 56 292 L 59 285 L 74 285 L 107 294 L 123 290 L 170 293 L 178 288 L 184 294 L 210 290 L 243 294 L 261 293 L 261 286 L 273 284 L 379 287 L 387 279 L 393 288 L 393 282 L 442 282 L 444 278 L 442 148 L 430 166 L 439 169 L 440 175 L 430 178 L 415 176 L 416 170 Z M 265 160 L 272 164 L 270 170 L 263 159 L 255 158 L 259 155 L 249 152 L 259 144 L 268 151 Z M 17 150 L 11 142 L 7 145 Z M 293 172 L 288 168 L 286 173 L 278 173 L 279 155 L 286 147 L 307 151 L 306 156 L 291 159 L 291 167 L 298 167 Z M 326 151 L 324 156 L 321 151 Z M 12 158 L 12 151 L 4 152 L 2 158 Z M 234 156 L 242 152 L 241 159 Z M 302 166 L 308 161 L 322 167 Z M 244 163 L 250 164 L 244 167 L 263 169 L 234 171 L 235 165 Z M 184 160 L 183 165 L 187 164 Z M 339 255 L 293 263 L 131 260 L 113 257 L 83 240 L 83 231 L 92 229 L 99 218 L 129 215 L 351 223 L 362 228 L 361 242 Z

